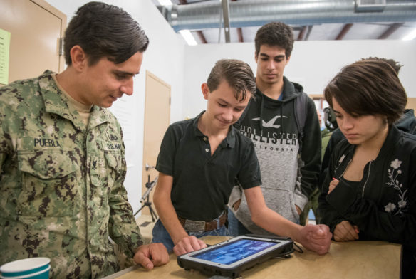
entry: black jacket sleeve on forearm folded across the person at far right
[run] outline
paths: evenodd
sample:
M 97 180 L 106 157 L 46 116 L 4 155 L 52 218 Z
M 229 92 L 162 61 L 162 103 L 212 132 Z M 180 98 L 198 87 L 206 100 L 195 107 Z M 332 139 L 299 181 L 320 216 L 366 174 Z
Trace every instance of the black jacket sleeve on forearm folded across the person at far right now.
M 410 177 L 408 180 L 403 179 L 403 181 L 408 181 L 409 186 L 406 190 L 405 187 L 402 187 L 402 191 L 400 191 L 403 199 L 397 205 L 391 204 L 394 206 L 393 208 L 397 206 L 401 208 L 402 206 L 402 214 L 391 214 L 386 212 L 387 209 L 378 209 L 374 201 L 355 195 L 353 189 L 342 180 L 331 194 L 326 196 L 326 201 L 345 219 L 355 223 L 360 231 L 365 233 L 365 236 L 383 241 L 405 243 L 413 251 L 416 251 L 416 166 L 414 162 L 416 162 L 415 151 L 412 152 L 410 160 L 410 164 L 413 164 L 409 168 Z M 397 181 L 399 183 L 397 187 L 400 188 L 401 181 Z M 375 185 L 372 186 L 375 187 Z

